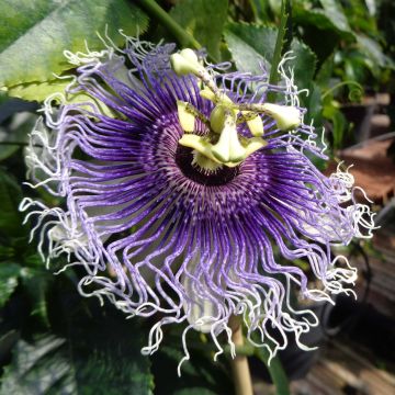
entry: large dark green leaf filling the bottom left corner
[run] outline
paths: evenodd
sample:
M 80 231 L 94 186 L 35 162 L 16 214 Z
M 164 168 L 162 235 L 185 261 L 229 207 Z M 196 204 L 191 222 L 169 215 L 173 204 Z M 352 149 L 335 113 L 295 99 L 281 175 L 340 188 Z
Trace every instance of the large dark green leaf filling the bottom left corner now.
M 44 335 L 34 343 L 20 340 L 4 369 L 0 394 L 150 394 L 140 336 L 134 332 L 131 341 L 131 334 L 116 335 L 108 330 L 101 342 L 92 341 L 87 331 L 80 339 Z

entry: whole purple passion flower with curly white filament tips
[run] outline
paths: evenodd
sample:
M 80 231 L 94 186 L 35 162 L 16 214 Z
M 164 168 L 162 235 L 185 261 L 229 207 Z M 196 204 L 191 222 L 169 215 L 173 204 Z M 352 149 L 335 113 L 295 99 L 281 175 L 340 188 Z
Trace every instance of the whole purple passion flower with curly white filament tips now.
M 228 320 L 239 315 L 250 341 L 273 353 L 287 332 L 298 341 L 317 325 L 292 308 L 291 287 L 313 301 L 352 293 L 356 270 L 331 247 L 370 237 L 373 215 L 354 201 L 350 173 L 327 178 L 308 159 L 325 155 L 286 58 L 274 87 L 263 69 L 230 72 L 191 49 L 129 37 L 125 49 L 65 54 L 77 75 L 59 108 L 46 101 L 26 155 L 35 187 L 64 203 L 21 207 L 37 217 L 47 262 L 67 253 L 66 268 L 86 269 L 81 294 L 131 316 L 160 313 L 144 352 L 158 349 L 165 325 L 187 323 L 187 359 L 192 328 L 221 353 L 218 336 L 232 343 Z

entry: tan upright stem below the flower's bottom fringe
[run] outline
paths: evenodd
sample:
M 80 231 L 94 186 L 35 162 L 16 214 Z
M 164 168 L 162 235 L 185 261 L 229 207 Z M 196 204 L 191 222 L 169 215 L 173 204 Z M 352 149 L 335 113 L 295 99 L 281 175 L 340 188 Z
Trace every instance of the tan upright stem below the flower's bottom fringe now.
M 236 316 L 230 317 L 229 326 L 233 328 L 232 340 L 236 348 L 242 347 L 244 338 L 240 319 Z M 230 365 L 236 395 L 252 395 L 252 382 L 247 357 L 237 354 L 235 358 L 230 359 Z

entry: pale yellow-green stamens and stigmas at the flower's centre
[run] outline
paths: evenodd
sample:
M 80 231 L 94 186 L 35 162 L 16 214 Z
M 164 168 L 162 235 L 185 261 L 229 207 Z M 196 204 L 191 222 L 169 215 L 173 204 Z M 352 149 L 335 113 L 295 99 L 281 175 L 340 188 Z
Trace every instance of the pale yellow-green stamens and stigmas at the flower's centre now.
M 179 144 L 193 148 L 196 153 L 205 156 L 207 160 L 199 160 L 201 163 L 213 163 L 235 167 L 255 151 L 263 148 L 267 142 L 263 121 L 260 114 L 271 116 L 280 131 L 289 131 L 297 127 L 302 122 L 301 111 L 295 106 L 279 105 L 273 103 L 235 103 L 216 84 L 210 72 L 199 63 L 196 54 L 192 49 L 182 49 L 170 56 L 170 63 L 179 76 L 193 74 L 203 83 L 200 95 L 212 101 L 215 106 L 210 115 L 210 125 L 206 117 L 188 102 L 178 101 L 178 116 L 183 135 Z M 208 136 L 193 134 L 195 119 L 200 119 L 208 125 Z M 239 136 L 237 124 L 246 123 L 253 137 Z M 219 138 L 215 135 L 219 134 Z M 241 139 L 241 142 L 240 142 Z M 204 165 L 205 166 L 205 165 Z

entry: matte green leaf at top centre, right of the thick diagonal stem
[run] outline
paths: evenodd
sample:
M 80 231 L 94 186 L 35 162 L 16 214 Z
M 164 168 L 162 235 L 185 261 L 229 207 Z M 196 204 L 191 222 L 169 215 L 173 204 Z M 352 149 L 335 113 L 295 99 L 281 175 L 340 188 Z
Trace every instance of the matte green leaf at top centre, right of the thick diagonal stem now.
M 227 16 L 228 0 L 181 0 L 170 15 L 219 59 L 221 36 Z

